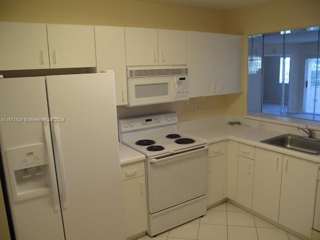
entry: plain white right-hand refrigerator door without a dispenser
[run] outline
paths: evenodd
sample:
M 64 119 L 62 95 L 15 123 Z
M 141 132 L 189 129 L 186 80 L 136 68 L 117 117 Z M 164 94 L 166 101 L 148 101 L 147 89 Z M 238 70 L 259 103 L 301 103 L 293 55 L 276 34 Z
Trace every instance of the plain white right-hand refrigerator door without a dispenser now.
M 113 73 L 46 86 L 66 239 L 125 239 Z

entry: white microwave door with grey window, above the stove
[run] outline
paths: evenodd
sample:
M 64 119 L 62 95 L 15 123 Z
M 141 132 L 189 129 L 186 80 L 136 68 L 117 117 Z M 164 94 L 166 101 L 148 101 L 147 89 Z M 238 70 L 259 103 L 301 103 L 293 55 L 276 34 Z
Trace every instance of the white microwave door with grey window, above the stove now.
M 176 98 L 173 76 L 128 78 L 128 105 L 146 105 L 174 101 Z

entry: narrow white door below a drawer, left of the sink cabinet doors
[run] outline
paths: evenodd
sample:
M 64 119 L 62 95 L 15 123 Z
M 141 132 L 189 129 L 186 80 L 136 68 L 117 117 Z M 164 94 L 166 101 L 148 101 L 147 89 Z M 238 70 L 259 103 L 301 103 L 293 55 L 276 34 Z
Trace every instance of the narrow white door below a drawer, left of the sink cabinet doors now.
M 238 156 L 238 184 L 236 200 L 251 209 L 254 161 Z

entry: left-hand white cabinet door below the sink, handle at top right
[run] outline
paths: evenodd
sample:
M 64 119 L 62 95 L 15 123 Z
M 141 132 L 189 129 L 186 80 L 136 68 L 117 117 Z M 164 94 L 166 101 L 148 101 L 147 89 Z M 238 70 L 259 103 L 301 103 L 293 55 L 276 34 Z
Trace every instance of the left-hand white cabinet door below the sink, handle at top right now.
M 252 210 L 278 221 L 282 153 L 255 148 Z

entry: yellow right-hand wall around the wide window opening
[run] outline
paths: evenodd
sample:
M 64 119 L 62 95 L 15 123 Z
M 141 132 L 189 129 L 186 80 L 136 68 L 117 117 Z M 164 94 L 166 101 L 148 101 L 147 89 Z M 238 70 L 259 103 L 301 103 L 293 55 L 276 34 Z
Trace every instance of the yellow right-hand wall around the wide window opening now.
M 226 31 L 244 34 L 242 44 L 242 94 L 227 96 L 227 114 L 246 114 L 247 35 L 320 24 L 320 0 L 271 0 L 226 13 Z

